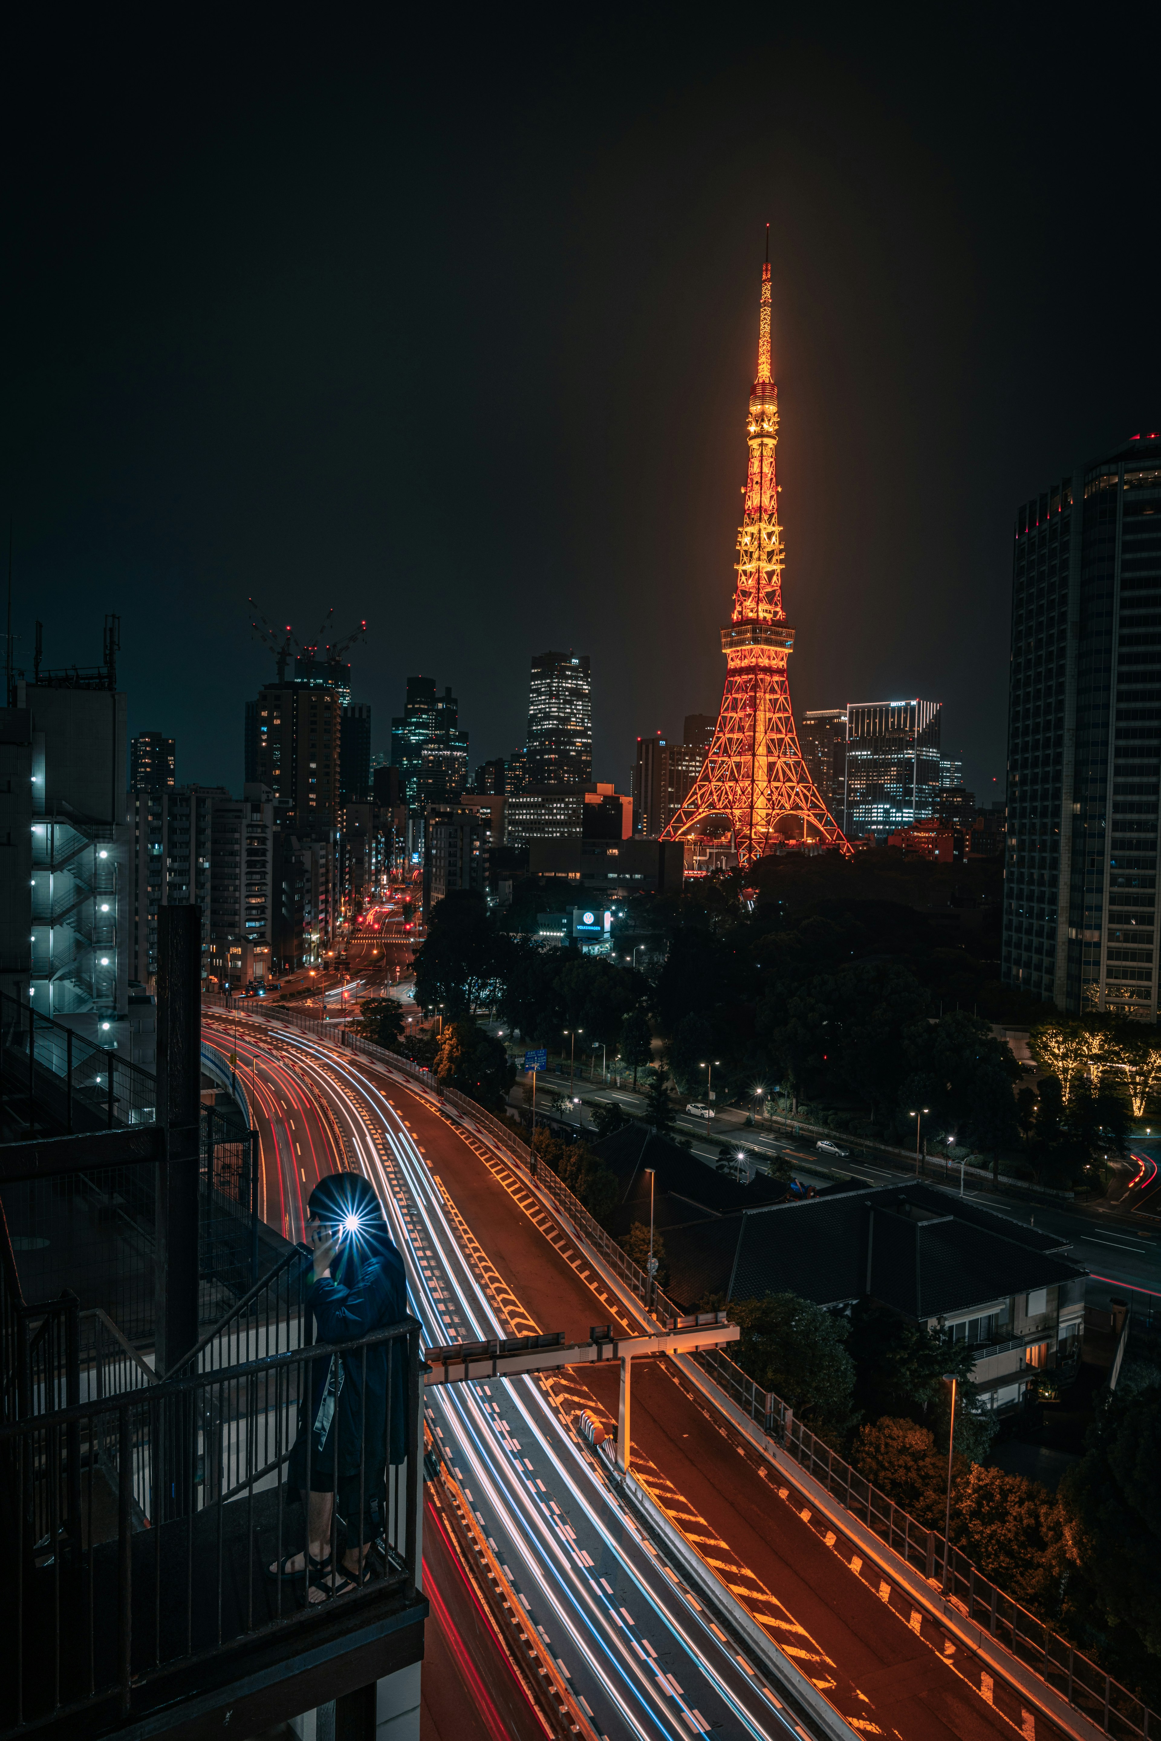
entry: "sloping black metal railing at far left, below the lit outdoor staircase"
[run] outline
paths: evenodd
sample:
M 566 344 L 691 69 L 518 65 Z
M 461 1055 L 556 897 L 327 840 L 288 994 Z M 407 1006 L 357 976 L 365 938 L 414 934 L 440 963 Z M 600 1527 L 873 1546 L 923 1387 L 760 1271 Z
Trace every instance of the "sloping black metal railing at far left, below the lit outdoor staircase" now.
M 157 1078 L 0 992 L 0 1092 L 28 1128 L 115 1130 L 157 1121 Z

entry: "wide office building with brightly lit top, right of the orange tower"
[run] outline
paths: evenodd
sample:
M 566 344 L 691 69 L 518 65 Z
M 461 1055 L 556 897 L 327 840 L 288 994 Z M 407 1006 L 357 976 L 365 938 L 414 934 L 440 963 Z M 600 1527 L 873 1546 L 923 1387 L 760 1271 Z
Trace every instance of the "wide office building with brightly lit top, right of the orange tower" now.
M 888 836 L 935 815 L 940 702 L 851 702 L 846 709 L 846 829 Z

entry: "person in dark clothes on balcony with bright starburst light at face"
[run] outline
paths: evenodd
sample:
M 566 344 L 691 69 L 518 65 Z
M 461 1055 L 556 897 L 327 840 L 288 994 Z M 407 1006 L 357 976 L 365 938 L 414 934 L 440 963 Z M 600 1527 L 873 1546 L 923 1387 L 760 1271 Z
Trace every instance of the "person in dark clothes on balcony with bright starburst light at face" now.
M 313 1248 L 308 1304 L 317 1341 L 357 1342 L 407 1316 L 404 1260 L 383 1207 L 362 1173 L 329 1173 L 310 1194 Z M 407 1455 L 406 1344 L 383 1342 L 310 1361 L 299 1402 L 287 1485 L 306 1511 L 306 1551 L 268 1567 L 270 1577 L 308 1577 L 306 1602 L 329 1602 L 366 1584 L 367 1548 L 385 1515 L 385 1464 Z M 338 1555 L 336 1520 L 346 1544 Z

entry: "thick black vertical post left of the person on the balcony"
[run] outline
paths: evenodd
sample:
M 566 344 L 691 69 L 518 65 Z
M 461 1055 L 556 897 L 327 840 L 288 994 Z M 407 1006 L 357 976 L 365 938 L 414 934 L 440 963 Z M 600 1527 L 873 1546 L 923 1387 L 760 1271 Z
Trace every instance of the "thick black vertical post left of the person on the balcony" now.
M 157 1370 L 197 1342 L 202 1112 L 202 909 L 162 907 L 157 928 Z

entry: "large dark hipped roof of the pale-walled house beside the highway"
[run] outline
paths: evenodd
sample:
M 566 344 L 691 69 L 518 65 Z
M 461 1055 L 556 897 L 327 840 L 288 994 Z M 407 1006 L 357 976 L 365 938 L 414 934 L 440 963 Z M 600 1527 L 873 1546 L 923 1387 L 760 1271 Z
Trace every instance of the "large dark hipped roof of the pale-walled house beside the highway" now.
M 1084 1274 L 1058 1252 L 1051 1234 L 950 1193 L 879 1186 L 745 1215 L 729 1294 L 820 1306 L 870 1294 L 923 1321 Z

